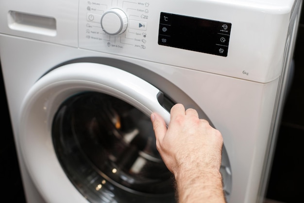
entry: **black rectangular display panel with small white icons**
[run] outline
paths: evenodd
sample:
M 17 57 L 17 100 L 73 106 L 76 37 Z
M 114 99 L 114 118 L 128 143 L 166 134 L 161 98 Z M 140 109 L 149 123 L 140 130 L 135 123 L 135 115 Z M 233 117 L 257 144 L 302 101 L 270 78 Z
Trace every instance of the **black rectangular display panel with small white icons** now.
M 227 56 L 231 23 L 161 13 L 158 44 Z

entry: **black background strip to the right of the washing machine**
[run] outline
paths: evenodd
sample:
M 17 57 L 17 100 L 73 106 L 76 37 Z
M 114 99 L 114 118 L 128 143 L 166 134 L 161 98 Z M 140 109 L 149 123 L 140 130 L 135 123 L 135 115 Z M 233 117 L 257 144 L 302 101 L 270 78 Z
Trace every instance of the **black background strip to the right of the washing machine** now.
M 303 8 L 303 5 L 302 5 Z M 286 98 L 267 197 L 284 203 L 304 198 L 304 9 L 294 52 L 295 69 Z M 299 201 L 300 200 L 300 201 Z

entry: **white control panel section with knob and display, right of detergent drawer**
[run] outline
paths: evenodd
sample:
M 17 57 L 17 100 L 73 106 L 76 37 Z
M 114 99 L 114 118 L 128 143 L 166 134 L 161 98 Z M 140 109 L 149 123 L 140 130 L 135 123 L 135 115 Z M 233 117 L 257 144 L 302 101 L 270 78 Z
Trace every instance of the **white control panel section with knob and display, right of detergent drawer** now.
M 78 47 L 246 80 L 277 78 L 289 14 L 270 9 L 265 15 L 264 3 L 220 2 L 79 0 Z

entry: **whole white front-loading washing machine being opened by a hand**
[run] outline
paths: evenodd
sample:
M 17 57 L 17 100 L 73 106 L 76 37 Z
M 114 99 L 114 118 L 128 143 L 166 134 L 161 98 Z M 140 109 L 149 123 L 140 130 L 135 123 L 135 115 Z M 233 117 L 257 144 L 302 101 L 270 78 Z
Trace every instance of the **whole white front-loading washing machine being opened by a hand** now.
M 302 0 L 10 0 L 0 60 L 28 203 L 174 203 L 150 114 L 224 138 L 228 203 L 262 202 Z

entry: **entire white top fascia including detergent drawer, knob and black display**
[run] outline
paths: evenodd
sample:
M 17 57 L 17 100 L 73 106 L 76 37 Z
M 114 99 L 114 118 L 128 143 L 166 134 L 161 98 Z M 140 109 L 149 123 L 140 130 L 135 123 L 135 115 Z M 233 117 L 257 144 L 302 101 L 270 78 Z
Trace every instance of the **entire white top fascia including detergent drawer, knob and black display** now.
M 92 51 L 82 57 L 150 61 L 263 83 L 282 73 L 280 56 L 291 44 L 291 17 L 302 2 L 46 0 L 33 7 L 15 1 L 0 8 L 1 34 Z

